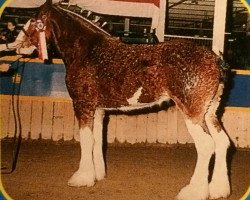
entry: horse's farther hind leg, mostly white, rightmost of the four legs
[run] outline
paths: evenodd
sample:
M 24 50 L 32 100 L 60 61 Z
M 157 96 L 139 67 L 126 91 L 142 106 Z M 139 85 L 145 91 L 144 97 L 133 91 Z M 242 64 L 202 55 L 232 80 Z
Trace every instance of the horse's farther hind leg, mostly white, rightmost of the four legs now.
M 216 116 L 221 92 L 222 87 L 219 87 L 218 93 L 213 99 L 205 116 L 207 127 L 215 142 L 215 166 L 212 181 L 209 184 L 209 197 L 211 199 L 226 198 L 230 195 L 226 161 L 227 149 L 230 145 L 230 141 Z

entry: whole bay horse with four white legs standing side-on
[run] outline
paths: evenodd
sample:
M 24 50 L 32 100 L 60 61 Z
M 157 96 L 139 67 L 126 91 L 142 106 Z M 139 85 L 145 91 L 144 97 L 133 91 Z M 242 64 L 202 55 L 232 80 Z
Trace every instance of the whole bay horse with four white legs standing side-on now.
M 69 186 L 93 186 L 105 178 L 105 111 L 128 112 L 172 100 L 183 113 L 198 154 L 193 176 L 177 199 L 229 196 L 226 155 L 230 141 L 216 115 L 225 82 L 219 56 L 185 40 L 125 44 L 50 1 L 41 6 L 34 20 L 27 39 L 39 46 L 36 27 L 42 21 L 47 41 L 55 43 L 65 64 L 66 85 L 79 121 L 81 159 Z

